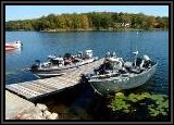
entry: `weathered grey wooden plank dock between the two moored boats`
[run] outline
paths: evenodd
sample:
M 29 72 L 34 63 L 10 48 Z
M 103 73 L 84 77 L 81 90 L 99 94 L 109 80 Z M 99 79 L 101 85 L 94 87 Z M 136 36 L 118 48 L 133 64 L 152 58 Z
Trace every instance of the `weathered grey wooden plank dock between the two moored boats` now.
M 7 85 L 5 89 L 26 99 L 34 99 L 41 96 L 44 97 L 46 95 L 59 92 L 61 90 L 64 90 L 65 88 L 73 87 L 79 84 L 82 74 L 90 73 L 95 67 L 102 64 L 102 62 L 103 59 L 100 59 L 92 63 L 79 66 L 74 70 L 74 72 L 58 77 Z

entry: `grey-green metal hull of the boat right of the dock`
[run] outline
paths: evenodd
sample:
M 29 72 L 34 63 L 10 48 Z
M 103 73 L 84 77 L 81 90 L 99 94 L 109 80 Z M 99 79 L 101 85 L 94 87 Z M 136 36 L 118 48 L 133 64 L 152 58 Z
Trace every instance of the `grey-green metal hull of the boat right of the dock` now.
M 151 76 L 156 73 L 158 64 L 151 68 L 140 73 L 130 74 L 129 76 L 117 76 L 112 78 L 89 79 L 91 87 L 100 95 L 108 95 L 117 92 L 125 89 L 132 89 L 146 84 Z

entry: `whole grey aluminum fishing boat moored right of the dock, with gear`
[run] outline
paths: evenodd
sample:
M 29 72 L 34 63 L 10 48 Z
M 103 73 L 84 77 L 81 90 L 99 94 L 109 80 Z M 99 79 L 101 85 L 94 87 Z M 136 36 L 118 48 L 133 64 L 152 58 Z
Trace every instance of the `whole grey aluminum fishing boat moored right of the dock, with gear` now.
M 96 92 L 108 95 L 125 89 L 132 89 L 146 84 L 156 73 L 158 63 L 148 55 L 137 57 L 133 62 L 123 61 L 115 53 L 108 53 L 103 64 L 88 74 L 87 78 Z

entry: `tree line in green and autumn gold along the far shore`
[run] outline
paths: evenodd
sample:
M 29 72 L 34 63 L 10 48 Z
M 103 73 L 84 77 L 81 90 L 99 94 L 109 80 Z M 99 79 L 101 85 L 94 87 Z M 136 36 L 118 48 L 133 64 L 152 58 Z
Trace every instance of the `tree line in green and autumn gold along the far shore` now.
M 5 22 L 5 30 L 119 30 L 169 28 L 169 17 L 142 13 L 89 12 L 49 14 L 35 20 Z

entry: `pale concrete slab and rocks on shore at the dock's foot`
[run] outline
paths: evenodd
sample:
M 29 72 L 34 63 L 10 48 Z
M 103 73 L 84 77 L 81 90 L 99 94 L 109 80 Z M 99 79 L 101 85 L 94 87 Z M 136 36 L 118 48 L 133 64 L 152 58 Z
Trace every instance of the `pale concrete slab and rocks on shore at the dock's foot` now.
M 5 90 L 5 120 L 58 120 L 58 113 L 50 112 L 42 103 L 34 104 Z

